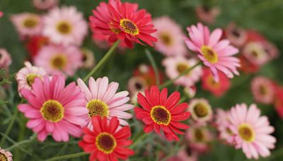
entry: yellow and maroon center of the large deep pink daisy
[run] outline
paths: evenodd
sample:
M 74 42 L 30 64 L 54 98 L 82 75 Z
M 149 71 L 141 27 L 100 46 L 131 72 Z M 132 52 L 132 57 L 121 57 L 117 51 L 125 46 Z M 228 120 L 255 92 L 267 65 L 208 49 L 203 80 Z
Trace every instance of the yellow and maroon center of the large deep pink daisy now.
M 64 107 L 57 100 L 47 100 L 42 105 L 40 113 L 45 120 L 58 122 L 64 117 Z

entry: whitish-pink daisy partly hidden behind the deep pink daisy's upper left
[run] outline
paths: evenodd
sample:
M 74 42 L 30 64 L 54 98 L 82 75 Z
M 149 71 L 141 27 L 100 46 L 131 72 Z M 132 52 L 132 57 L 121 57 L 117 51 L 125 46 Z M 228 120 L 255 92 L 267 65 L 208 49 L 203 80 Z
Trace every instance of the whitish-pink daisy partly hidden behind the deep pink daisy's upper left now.
M 47 73 L 44 68 L 33 66 L 30 62 L 25 61 L 25 67 L 21 68 L 16 74 L 16 81 L 18 81 L 18 92 L 20 93 L 22 88 L 32 91 L 32 85 L 35 82 L 35 78 L 43 78 Z M 21 95 L 21 93 L 20 93 Z

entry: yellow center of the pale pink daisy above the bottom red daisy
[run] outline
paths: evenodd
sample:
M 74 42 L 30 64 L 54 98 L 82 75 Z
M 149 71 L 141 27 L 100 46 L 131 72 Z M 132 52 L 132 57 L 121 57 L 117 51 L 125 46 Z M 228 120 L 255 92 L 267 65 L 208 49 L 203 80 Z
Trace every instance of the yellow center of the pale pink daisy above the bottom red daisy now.
M 91 100 L 90 102 L 88 102 L 88 105 L 86 105 L 86 108 L 88 108 L 89 117 L 108 116 L 108 105 L 106 105 L 106 103 L 101 100 Z

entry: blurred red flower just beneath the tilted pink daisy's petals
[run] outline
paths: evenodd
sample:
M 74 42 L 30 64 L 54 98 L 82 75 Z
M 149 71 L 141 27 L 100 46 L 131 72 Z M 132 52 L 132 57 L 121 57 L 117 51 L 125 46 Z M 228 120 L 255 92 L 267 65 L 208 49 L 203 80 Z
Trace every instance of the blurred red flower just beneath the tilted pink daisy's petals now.
M 224 95 L 230 88 L 230 80 L 224 73 L 219 73 L 219 81 L 216 82 L 213 78 L 212 71 L 209 68 L 202 69 L 202 89 L 208 90 L 216 97 Z

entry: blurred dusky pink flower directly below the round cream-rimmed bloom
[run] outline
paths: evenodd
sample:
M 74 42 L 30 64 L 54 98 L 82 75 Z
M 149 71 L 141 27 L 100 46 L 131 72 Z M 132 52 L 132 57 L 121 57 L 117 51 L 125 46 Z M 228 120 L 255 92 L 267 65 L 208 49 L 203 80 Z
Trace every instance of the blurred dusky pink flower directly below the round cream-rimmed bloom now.
M 187 130 L 186 139 L 188 145 L 198 153 L 206 153 L 209 150 L 209 142 L 212 141 L 212 132 L 205 126 L 191 126 Z

